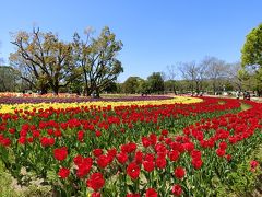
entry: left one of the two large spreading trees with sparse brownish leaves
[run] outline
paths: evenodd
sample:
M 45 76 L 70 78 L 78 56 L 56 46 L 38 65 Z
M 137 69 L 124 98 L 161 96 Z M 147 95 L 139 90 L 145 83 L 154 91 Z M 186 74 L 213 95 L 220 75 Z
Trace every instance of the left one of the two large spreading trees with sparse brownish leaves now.
M 67 86 L 78 76 L 72 61 L 72 46 L 59 40 L 52 32 L 44 33 L 34 28 L 33 33 L 19 32 L 11 42 L 16 51 L 10 61 L 22 70 L 22 79 L 41 93 L 50 88 L 55 94 Z

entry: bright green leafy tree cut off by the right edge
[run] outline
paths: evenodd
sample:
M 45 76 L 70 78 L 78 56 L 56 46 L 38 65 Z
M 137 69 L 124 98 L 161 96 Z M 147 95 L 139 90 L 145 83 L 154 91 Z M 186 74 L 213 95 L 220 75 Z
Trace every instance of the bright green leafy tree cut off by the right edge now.
M 250 68 L 254 79 L 255 90 L 262 95 L 262 23 L 253 28 L 247 36 L 241 49 L 241 65 L 243 69 Z

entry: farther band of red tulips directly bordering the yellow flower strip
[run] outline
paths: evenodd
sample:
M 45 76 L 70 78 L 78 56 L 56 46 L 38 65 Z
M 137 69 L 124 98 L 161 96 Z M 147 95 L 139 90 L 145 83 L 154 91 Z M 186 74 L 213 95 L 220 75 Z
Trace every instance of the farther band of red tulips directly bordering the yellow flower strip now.
M 127 141 L 136 141 L 141 136 L 159 129 L 177 132 L 184 126 L 205 117 L 217 116 L 239 107 L 237 100 L 218 104 L 215 99 L 205 99 L 195 104 L 145 105 L 145 106 L 90 106 L 76 108 L 52 107 L 47 109 L 14 111 L 15 114 L 0 114 L 0 130 L 7 141 L 16 139 L 21 144 L 40 139 L 41 146 L 69 141 L 79 151 L 93 148 L 119 147 Z

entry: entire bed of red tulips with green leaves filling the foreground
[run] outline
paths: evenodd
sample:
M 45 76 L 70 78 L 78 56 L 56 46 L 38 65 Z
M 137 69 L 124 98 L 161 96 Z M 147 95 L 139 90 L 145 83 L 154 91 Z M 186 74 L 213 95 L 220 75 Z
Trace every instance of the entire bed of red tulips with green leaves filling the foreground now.
M 261 144 L 262 104 L 246 103 L 15 109 L 0 114 L 0 159 L 19 183 L 31 174 L 60 196 L 216 195 L 214 178 L 230 184 Z

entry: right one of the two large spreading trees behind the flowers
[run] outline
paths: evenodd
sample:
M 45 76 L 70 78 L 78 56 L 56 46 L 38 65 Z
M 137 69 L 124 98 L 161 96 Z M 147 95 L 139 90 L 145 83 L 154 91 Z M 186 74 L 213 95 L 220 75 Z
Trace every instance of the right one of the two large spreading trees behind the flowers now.
M 74 59 L 83 72 L 84 92 L 86 95 L 96 93 L 99 96 L 109 83 L 117 80 L 123 72 L 121 62 L 117 59 L 122 49 L 122 43 L 116 40 L 116 35 L 106 26 L 95 39 L 87 32 L 86 40 L 74 34 Z

